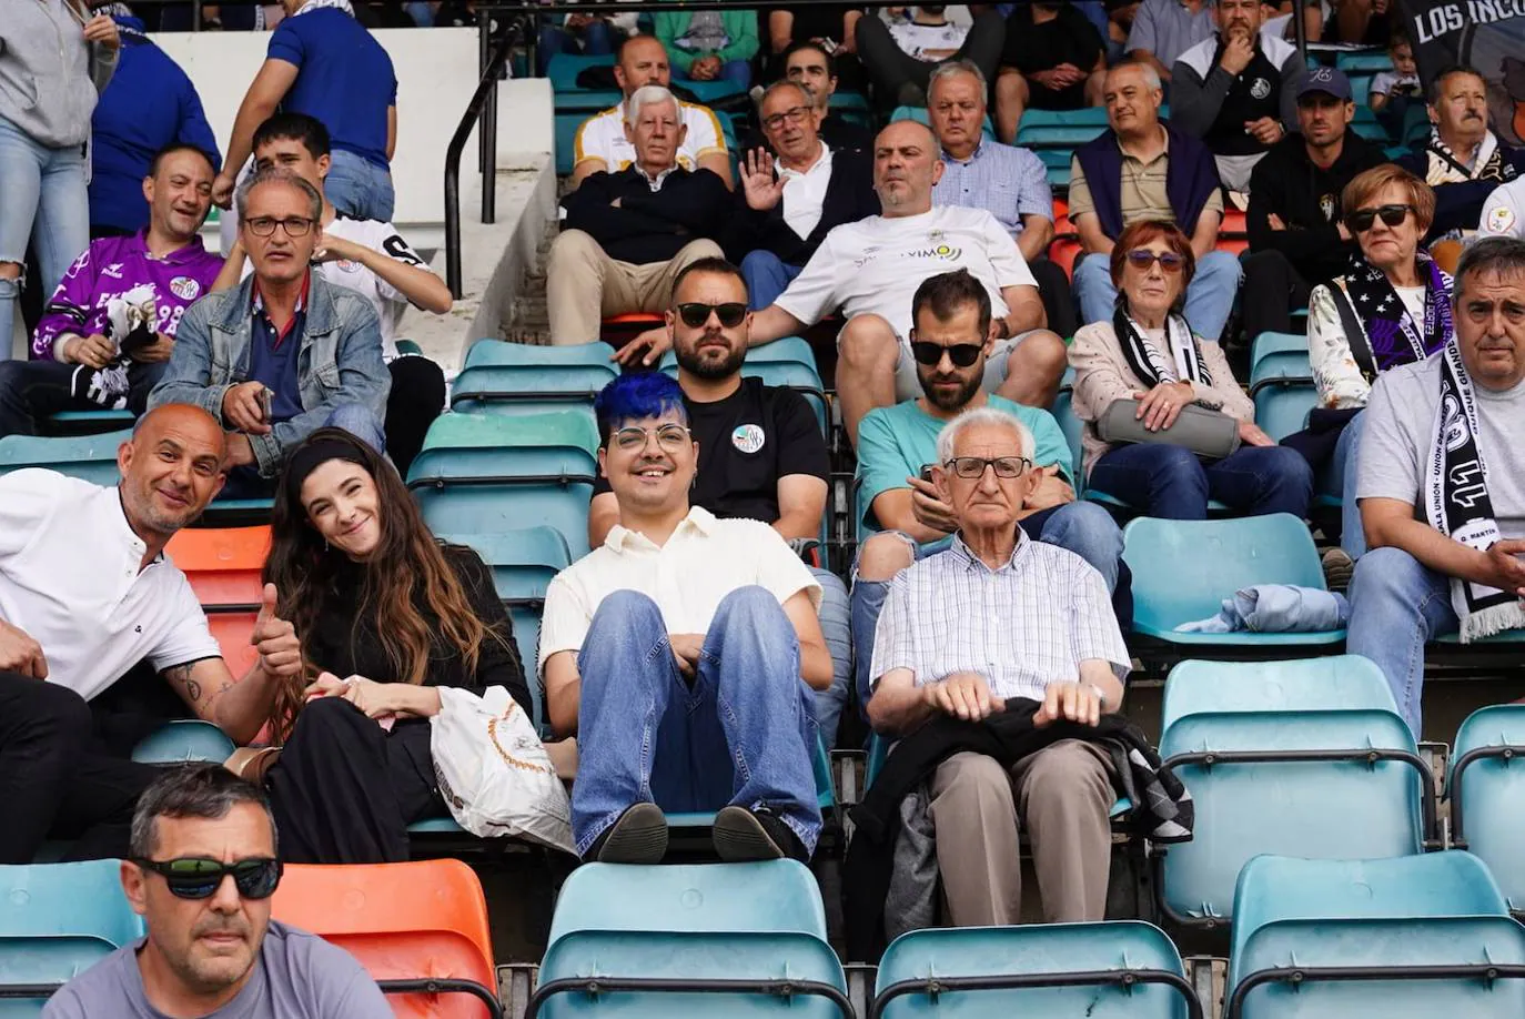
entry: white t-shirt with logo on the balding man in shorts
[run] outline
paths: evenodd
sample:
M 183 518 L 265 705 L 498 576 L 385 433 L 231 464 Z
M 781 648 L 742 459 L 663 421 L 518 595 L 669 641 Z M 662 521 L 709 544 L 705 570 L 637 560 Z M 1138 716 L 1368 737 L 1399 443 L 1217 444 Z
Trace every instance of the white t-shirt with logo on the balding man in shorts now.
M 1002 317 L 1010 311 L 1000 296 L 1003 287 L 1037 287 L 996 217 L 985 209 L 936 206 L 833 229 L 776 304 L 807 325 L 837 308 L 843 317 L 883 316 L 906 342 L 917 287 L 955 268 L 967 268 L 985 285 L 991 313 Z

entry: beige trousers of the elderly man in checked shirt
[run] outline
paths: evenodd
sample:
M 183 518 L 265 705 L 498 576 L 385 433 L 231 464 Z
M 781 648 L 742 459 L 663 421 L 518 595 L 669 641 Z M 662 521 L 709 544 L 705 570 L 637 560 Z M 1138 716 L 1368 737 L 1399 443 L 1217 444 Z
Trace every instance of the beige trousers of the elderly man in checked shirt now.
M 1116 796 L 1107 757 L 1060 740 L 1010 773 L 984 754 L 955 754 L 932 778 L 932 824 L 949 920 L 958 927 L 1022 918 L 1019 825 L 1028 831 L 1043 920 L 1103 920 Z

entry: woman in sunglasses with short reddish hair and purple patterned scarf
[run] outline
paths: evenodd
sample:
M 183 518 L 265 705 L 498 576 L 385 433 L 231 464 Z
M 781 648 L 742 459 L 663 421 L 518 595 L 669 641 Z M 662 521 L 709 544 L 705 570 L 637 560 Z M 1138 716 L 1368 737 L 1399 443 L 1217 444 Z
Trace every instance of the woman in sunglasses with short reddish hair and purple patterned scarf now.
M 1328 468 L 1336 496 L 1356 488 L 1360 410 L 1380 372 L 1424 360 L 1450 339 L 1450 276 L 1420 247 L 1435 192 L 1386 163 L 1359 174 L 1342 195 L 1345 230 L 1360 252 L 1350 270 L 1308 296 L 1308 360 L 1319 404 L 1296 445 Z M 1356 500 L 1342 510 L 1340 548 L 1366 551 Z M 1345 563 L 1344 566 L 1348 566 Z

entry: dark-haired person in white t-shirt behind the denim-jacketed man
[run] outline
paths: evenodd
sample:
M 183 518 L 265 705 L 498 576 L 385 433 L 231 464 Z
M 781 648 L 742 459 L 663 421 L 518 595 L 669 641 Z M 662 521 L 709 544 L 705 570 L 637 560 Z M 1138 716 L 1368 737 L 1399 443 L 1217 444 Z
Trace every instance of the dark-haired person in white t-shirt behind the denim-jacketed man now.
M 398 326 L 409 305 L 448 314 L 450 287 L 430 270 L 390 223 L 339 215 L 328 200 L 331 172 L 328 130 L 305 113 L 278 113 L 255 131 L 255 166 L 279 166 L 317 188 L 323 217 L 313 261 L 328 282 L 354 290 L 377 313 L 381 323 L 383 357 L 392 377 L 386 406 L 386 452 L 398 473 L 424 448 L 424 433 L 445 409 L 445 374 L 439 365 L 416 354 L 396 351 Z M 253 268 L 242 243 L 235 243 L 217 290 L 226 290 Z

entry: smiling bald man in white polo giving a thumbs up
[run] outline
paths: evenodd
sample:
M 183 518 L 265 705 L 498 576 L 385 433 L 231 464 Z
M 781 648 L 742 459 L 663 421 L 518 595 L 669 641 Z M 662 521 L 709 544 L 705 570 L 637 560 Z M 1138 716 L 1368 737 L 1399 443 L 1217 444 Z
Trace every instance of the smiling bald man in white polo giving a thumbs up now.
M 133 807 L 159 773 L 130 760 L 133 746 L 185 714 L 152 674 L 247 743 L 300 671 L 267 584 L 258 657 L 235 680 L 163 554 L 223 487 L 226 456 L 210 413 L 168 404 L 122 442 L 116 487 L 37 468 L 0 477 L 0 863 L 32 862 L 47 837 L 78 839 L 76 859 L 127 854 Z

